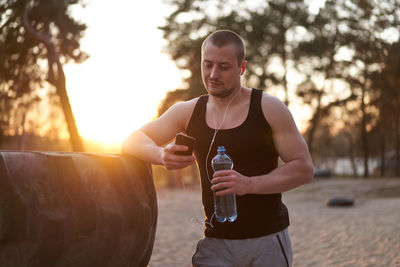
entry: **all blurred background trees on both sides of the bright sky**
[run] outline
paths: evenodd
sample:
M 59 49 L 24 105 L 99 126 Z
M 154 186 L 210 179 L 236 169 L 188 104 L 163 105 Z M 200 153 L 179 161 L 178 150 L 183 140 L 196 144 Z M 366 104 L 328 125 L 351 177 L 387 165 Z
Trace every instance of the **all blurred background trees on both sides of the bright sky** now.
M 172 11 L 159 27 L 164 52 L 183 83 L 166 94 L 159 114 L 206 93 L 201 43 L 231 29 L 246 42 L 244 83 L 306 119 L 298 126 L 317 168 L 346 159 L 353 175 L 400 176 L 400 0 L 165 3 Z M 0 0 L 0 147 L 23 149 L 26 137 L 42 136 L 47 144 L 70 138 L 57 149 L 83 150 L 62 68 L 87 58 L 80 48 L 86 25 L 70 14 L 76 4 Z

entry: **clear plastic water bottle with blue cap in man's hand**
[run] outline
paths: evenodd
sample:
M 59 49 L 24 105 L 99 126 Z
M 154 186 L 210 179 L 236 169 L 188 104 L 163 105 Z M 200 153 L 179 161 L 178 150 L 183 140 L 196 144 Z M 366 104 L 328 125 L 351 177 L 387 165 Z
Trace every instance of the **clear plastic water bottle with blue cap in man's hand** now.
M 218 154 L 211 161 L 211 166 L 214 172 L 232 170 L 233 161 L 225 153 L 225 147 L 219 146 L 217 151 Z M 219 222 L 225 222 L 226 220 L 233 222 L 236 220 L 237 211 L 235 194 L 216 196 L 214 192 L 214 210 L 215 217 Z

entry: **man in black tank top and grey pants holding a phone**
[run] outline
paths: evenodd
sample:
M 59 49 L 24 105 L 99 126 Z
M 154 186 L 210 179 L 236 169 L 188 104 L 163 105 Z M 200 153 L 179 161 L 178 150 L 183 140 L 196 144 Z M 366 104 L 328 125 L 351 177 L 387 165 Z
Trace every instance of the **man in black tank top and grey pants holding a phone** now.
M 212 33 L 202 45 L 208 95 L 175 104 L 123 144 L 123 153 L 167 169 L 197 160 L 206 220 L 193 266 L 291 266 L 289 218 L 281 193 L 310 182 L 313 165 L 287 107 L 241 85 L 246 64 L 244 43 L 236 33 Z M 180 132 L 197 139 L 196 157 L 176 155 L 187 147 L 167 144 Z M 222 145 L 234 168 L 213 173 L 210 161 Z M 279 168 L 278 157 L 285 163 Z M 236 194 L 237 220 L 215 220 L 214 191 Z

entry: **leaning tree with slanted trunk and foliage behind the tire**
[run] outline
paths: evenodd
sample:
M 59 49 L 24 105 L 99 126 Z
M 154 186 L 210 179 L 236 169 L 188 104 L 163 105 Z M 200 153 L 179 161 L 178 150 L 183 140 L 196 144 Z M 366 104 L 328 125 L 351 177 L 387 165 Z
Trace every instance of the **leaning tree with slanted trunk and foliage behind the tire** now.
M 56 88 L 73 150 L 83 151 L 66 92 L 62 64 L 80 63 L 87 54 L 79 40 L 86 25 L 74 20 L 69 6 L 79 0 L 0 1 L 0 97 L 2 113 L 12 102 L 37 90 L 47 81 Z M 2 129 L 6 116 L 0 118 Z

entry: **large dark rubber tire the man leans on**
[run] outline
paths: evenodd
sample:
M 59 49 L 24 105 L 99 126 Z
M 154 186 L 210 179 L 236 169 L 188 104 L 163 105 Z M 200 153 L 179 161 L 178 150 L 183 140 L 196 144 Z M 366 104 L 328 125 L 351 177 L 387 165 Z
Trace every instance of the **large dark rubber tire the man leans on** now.
M 147 266 L 156 224 L 143 161 L 0 152 L 0 266 Z

